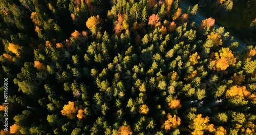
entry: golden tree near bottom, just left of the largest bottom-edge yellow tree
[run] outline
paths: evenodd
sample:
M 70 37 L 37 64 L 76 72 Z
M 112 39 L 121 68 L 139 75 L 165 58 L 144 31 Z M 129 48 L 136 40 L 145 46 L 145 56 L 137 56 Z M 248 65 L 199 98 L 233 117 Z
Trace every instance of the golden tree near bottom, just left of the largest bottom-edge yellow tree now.
M 181 121 L 179 117 L 176 117 L 176 115 L 171 116 L 170 114 L 167 114 L 167 120 L 162 125 L 162 128 L 167 131 L 171 128 L 177 128 L 180 123 Z

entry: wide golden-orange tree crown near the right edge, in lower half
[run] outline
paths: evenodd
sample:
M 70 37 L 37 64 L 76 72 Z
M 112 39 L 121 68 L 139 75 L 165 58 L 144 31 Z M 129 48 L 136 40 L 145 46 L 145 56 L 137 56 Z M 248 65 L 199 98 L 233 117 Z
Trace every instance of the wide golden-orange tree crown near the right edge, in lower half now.
M 230 89 L 226 91 L 226 98 L 241 98 L 244 99 L 248 97 L 251 93 L 246 90 L 245 86 L 231 86 Z

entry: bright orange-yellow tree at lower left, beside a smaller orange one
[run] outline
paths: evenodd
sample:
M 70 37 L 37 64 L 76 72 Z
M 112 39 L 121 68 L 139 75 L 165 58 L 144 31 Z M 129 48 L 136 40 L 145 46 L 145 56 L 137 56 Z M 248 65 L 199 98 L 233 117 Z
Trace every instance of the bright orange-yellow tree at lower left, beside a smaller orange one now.
M 77 107 L 74 107 L 75 103 L 69 101 L 69 104 L 64 105 L 63 109 L 60 111 L 63 116 L 67 116 L 69 119 L 75 119 L 75 114 Z

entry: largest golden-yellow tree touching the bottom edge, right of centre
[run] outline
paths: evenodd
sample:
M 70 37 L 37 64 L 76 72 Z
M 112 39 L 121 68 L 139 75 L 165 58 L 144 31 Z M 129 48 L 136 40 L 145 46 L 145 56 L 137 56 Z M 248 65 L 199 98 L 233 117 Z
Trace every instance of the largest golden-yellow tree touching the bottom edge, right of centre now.
M 214 125 L 209 124 L 209 121 L 210 120 L 208 117 L 202 118 L 201 114 L 197 115 L 197 117 L 193 120 L 193 123 L 188 126 L 190 129 L 194 130 L 191 132 L 191 134 L 203 135 L 205 130 L 209 132 L 215 131 L 216 129 L 214 128 Z

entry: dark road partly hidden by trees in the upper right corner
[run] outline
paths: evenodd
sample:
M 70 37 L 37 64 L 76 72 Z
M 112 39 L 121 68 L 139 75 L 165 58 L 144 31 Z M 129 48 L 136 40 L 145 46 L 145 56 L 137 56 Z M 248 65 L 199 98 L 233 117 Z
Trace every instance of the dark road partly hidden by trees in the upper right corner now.
M 188 7 L 189 7 L 189 5 L 188 5 L 186 2 L 180 1 L 180 8 L 182 9 L 183 12 L 185 12 L 185 11 L 188 9 Z M 191 8 L 193 8 L 193 6 L 191 6 Z M 191 8 L 190 8 L 190 9 L 191 9 Z M 203 16 L 203 15 L 202 15 L 201 13 L 199 13 L 199 12 L 192 18 L 192 20 L 195 21 L 196 26 L 200 26 L 201 23 L 202 23 L 202 21 L 203 21 L 204 19 L 206 19 L 206 17 Z M 218 29 L 218 28 L 220 28 L 220 27 L 222 27 L 222 26 L 215 24 L 215 28 L 216 28 L 216 29 Z M 225 30 L 224 33 L 226 33 L 226 32 L 227 32 L 227 31 Z M 232 35 L 229 35 L 229 37 L 231 37 L 231 36 L 232 36 Z M 237 50 L 237 51 L 242 51 L 244 48 L 246 48 L 246 42 L 241 41 L 241 40 L 239 40 L 238 38 L 236 38 L 236 37 L 234 37 L 234 36 L 233 36 L 233 41 L 232 41 L 232 42 L 239 42 L 238 50 Z M 231 42 L 230 42 L 230 43 L 231 43 Z

